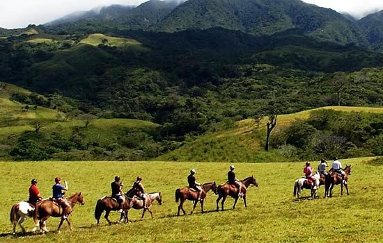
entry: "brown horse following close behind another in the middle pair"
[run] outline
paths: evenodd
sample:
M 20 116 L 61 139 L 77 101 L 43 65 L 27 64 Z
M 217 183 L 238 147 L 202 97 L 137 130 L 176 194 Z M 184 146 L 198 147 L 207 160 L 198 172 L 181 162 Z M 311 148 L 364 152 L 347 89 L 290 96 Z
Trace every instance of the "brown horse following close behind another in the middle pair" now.
M 206 197 L 206 194 L 208 194 L 210 190 L 212 190 L 214 194 L 217 194 L 217 184 L 214 181 L 212 183 L 205 183 L 201 185 L 201 187 L 202 187 L 202 192 L 201 192 L 200 203 L 201 203 L 201 212 L 203 213 L 203 201 Z M 184 215 L 186 215 L 186 212 L 183 208 L 183 205 L 186 200 L 194 201 L 193 210 L 190 213 L 192 214 L 198 203 L 198 192 L 196 192 L 193 189 L 190 189 L 189 187 L 182 187 L 175 190 L 175 202 L 178 203 L 178 201 L 180 201 L 180 205 L 178 206 L 177 216 L 180 216 L 180 210 L 182 210 Z

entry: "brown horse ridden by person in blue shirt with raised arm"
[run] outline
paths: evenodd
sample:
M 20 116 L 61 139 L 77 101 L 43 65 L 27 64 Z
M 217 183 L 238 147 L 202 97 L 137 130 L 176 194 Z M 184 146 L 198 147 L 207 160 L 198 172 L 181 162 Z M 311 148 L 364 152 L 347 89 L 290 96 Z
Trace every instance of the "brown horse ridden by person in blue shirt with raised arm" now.
M 70 196 L 68 199 L 68 204 L 70 206 L 70 212 L 72 212 L 73 208 L 77 203 L 81 203 L 81 205 L 85 204 L 84 195 L 81 192 L 77 192 Z M 70 231 L 72 231 L 72 226 L 69 221 L 69 215 L 66 219 L 61 218 L 60 224 L 58 224 L 57 232 L 60 233 L 61 225 L 63 221 L 66 220 Z M 46 233 L 47 225 L 46 222 L 49 217 L 62 217 L 63 216 L 63 208 L 58 206 L 56 203 L 50 200 L 43 200 L 36 204 L 35 215 L 33 217 L 35 224 L 37 224 L 38 220 L 40 220 L 40 233 Z

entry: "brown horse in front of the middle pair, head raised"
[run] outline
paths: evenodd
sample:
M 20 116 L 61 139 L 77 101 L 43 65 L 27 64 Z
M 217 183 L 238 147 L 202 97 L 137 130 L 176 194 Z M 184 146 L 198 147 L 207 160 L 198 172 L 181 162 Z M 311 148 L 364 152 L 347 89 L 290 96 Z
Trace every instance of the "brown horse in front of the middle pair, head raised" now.
M 241 190 L 241 193 L 243 194 L 242 198 L 243 198 L 245 207 L 247 207 L 246 192 L 247 192 L 247 188 L 249 187 L 249 185 L 255 185 L 256 187 L 258 187 L 258 183 L 256 181 L 256 178 L 254 178 L 254 176 L 249 176 L 247 178 L 244 178 L 241 181 L 240 190 Z M 235 199 L 234 205 L 233 205 L 233 209 L 234 209 L 235 205 L 237 204 L 237 201 L 238 201 L 237 187 L 235 187 L 235 185 L 231 185 L 231 184 L 226 183 L 224 185 L 219 185 L 217 191 L 218 191 L 217 211 L 219 210 L 219 201 L 221 201 L 221 199 L 222 199 L 221 210 L 224 211 L 224 203 L 226 201 L 227 196 L 231 196 Z

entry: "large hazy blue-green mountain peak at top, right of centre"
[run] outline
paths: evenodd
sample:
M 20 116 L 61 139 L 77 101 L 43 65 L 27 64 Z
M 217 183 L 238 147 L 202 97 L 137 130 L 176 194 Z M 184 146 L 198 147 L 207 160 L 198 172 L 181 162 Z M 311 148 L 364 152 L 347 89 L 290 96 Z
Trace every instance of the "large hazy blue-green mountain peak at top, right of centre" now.
M 299 28 L 319 40 L 368 47 L 356 24 L 338 12 L 300 0 L 189 0 L 175 8 L 159 31 L 222 27 L 252 35 Z

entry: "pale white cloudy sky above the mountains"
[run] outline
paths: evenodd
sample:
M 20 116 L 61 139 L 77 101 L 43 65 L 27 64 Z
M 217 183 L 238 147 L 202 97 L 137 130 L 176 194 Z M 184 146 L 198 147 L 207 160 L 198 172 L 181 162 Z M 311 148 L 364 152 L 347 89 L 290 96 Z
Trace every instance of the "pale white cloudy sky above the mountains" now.
M 146 0 L 0 0 L 0 27 L 23 28 L 45 24 L 76 11 L 111 4 L 139 5 Z M 383 0 L 304 0 L 307 3 L 364 17 L 383 9 Z

